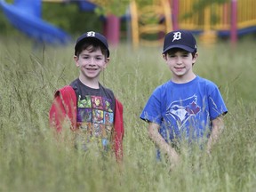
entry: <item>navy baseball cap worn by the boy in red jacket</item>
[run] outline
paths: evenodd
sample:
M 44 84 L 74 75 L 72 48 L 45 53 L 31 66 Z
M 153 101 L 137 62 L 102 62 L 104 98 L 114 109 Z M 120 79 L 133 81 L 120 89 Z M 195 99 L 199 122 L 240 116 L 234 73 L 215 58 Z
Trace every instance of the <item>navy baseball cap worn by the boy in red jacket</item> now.
M 86 33 L 84 33 L 82 36 L 79 36 L 79 37 L 76 39 L 75 55 L 76 55 L 77 48 L 78 48 L 86 39 L 89 39 L 89 38 L 94 38 L 94 39 L 99 40 L 100 43 L 103 44 L 103 45 L 106 47 L 106 49 L 107 49 L 107 57 L 109 57 L 110 52 L 109 52 L 109 50 L 108 50 L 108 41 L 107 41 L 106 37 L 105 37 L 105 36 L 102 36 L 100 33 L 94 32 L 94 31 L 86 32 Z

